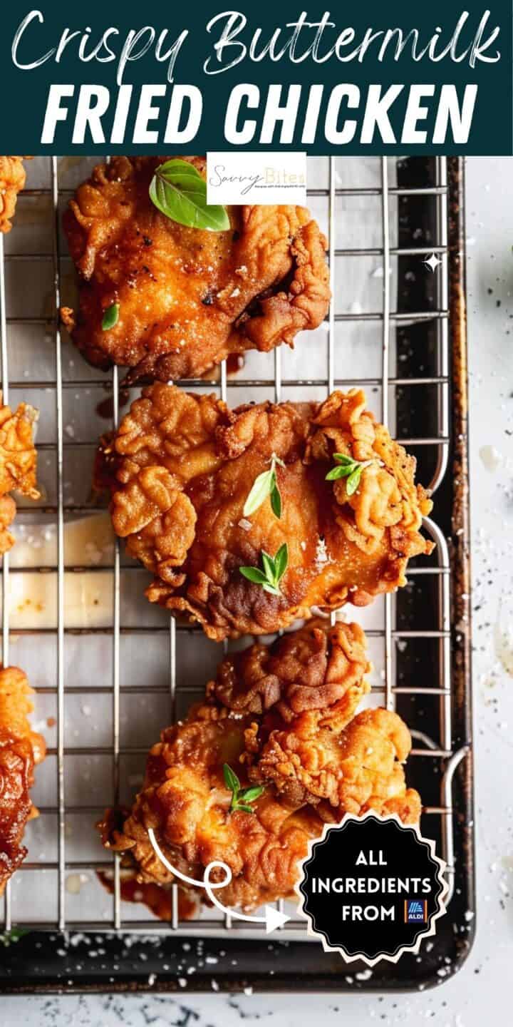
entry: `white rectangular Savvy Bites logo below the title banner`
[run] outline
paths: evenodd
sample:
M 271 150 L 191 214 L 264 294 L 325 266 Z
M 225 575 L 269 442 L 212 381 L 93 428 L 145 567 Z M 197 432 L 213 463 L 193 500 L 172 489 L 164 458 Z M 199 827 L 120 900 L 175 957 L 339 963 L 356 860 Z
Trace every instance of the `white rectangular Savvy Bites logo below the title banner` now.
M 298 203 L 307 201 L 306 153 L 214 153 L 206 155 L 207 203 Z

